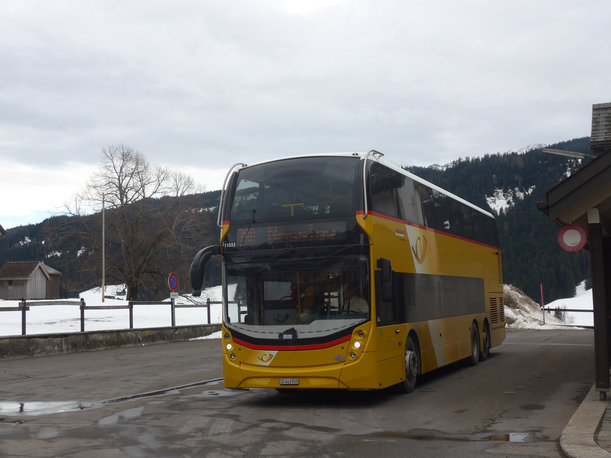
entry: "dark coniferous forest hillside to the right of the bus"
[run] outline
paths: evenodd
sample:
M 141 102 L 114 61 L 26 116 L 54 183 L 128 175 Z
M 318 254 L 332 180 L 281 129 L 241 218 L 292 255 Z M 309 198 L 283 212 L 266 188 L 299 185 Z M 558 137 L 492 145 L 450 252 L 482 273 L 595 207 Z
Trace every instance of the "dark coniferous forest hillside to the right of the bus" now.
M 590 137 L 569 140 L 549 148 L 590 153 Z M 585 159 L 584 159 L 585 161 Z M 575 287 L 590 278 L 587 250 L 569 253 L 557 242 L 560 227 L 536 208 L 546 192 L 577 170 L 578 159 L 544 153 L 486 154 L 482 158 L 457 159 L 448 167 L 404 166 L 415 175 L 497 215 L 503 259 L 503 283 L 522 289 L 540 303 L 573 297 Z M 496 190 L 518 194 L 513 205 L 493 212 L 486 201 Z M 517 193 L 516 193 L 517 191 Z

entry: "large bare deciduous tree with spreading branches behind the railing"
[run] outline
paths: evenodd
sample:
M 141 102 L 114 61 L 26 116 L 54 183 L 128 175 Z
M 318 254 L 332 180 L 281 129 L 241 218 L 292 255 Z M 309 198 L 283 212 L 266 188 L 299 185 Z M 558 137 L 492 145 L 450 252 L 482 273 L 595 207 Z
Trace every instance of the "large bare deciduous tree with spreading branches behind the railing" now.
M 192 258 L 193 238 L 202 233 L 206 215 L 185 196 L 197 191 L 190 176 L 152 165 L 131 147 L 103 148 L 100 169 L 65 205 L 72 217 L 57 228 L 56 240 L 89 241 L 89 255 L 78 259 L 89 274 L 82 282 L 99 284 L 104 200 L 106 278 L 125 283 L 127 299 L 137 300 L 140 286 L 160 291 L 169 271 L 185 268 Z

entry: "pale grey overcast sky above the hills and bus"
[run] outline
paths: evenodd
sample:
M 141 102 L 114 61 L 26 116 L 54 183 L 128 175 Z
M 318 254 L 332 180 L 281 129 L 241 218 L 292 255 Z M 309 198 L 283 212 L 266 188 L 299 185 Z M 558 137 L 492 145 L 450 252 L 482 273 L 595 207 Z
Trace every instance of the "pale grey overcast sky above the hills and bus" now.
M 124 144 L 219 189 L 235 162 L 395 164 L 590 135 L 611 2 L 2 0 L 0 224 L 61 210 Z

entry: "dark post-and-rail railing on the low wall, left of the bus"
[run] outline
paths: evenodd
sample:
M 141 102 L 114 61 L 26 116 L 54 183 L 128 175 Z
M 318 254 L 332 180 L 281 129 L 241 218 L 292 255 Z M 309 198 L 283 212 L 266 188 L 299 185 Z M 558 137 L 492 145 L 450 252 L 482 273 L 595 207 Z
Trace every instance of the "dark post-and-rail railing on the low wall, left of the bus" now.
M 30 307 L 42 307 L 45 305 L 78 305 L 81 311 L 81 332 L 85 331 L 85 311 L 86 310 L 112 310 L 112 309 L 128 309 L 130 311 L 130 327 L 128 329 L 134 329 L 134 305 L 169 305 L 170 306 L 170 325 L 176 325 L 176 313 L 177 308 L 201 308 L 206 307 L 208 322 L 205 324 L 212 324 L 210 318 L 210 305 L 222 304 L 221 301 L 207 299 L 203 304 L 176 304 L 174 298 L 170 299 L 170 302 L 153 302 L 153 301 L 132 301 L 125 305 L 87 305 L 84 299 L 81 300 L 30 300 L 27 302 L 26 299 L 21 299 L 18 307 L 0 307 L 0 311 L 21 311 L 21 335 L 26 335 L 26 324 L 27 324 L 27 311 Z

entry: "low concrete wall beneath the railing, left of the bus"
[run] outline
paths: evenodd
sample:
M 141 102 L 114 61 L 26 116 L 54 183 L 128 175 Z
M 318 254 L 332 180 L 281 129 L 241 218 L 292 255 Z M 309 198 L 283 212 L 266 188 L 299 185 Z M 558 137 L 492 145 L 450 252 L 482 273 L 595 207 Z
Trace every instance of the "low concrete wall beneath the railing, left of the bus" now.
M 150 329 L 0 336 L 0 360 L 181 342 L 220 330 L 221 324 L 199 324 Z

